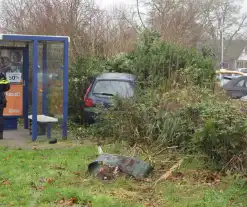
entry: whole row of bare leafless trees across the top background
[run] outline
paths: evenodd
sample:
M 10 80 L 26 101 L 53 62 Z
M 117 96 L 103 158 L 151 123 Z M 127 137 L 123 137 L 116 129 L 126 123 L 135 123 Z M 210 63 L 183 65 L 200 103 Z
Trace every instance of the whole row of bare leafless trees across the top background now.
M 136 8 L 120 5 L 112 11 L 99 9 L 93 0 L 2 0 L 0 23 L 4 32 L 68 35 L 72 57 L 108 57 L 134 50 L 142 28 L 195 46 L 203 38 L 218 40 L 223 19 L 224 37 L 233 40 L 246 27 L 240 8 L 241 0 L 136 0 Z

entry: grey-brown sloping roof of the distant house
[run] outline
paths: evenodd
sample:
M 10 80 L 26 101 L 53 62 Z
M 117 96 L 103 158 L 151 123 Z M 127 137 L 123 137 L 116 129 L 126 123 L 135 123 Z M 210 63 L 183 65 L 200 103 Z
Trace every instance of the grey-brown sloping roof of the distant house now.
M 220 51 L 221 51 L 220 40 L 216 40 L 216 41 L 209 40 L 203 43 L 199 43 L 198 49 L 201 49 L 203 46 L 211 48 L 214 54 L 220 57 Z M 245 40 L 232 40 L 232 41 L 225 40 L 224 60 L 225 61 L 237 60 L 246 46 L 247 46 L 247 41 Z

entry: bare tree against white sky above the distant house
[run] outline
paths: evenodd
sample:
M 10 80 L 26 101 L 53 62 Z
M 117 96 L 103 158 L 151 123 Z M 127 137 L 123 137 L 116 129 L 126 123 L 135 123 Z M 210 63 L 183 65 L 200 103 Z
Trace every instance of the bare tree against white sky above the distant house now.
M 234 39 L 246 38 L 247 14 L 243 11 L 243 0 L 207 0 L 205 18 L 207 19 L 206 39 L 219 57 L 228 53 Z M 224 46 L 222 43 L 224 41 Z M 221 51 L 222 50 L 222 51 Z

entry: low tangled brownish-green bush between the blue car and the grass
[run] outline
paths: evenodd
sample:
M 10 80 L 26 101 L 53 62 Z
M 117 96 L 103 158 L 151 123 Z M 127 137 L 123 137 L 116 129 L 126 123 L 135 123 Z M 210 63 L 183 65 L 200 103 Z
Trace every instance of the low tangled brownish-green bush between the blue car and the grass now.
M 240 105 L 198 86 L 160 87 L 132 100 L 115 100 L 104 118 L 97 126 L 101 136 L 152 151 L 178 146 L 182 152 L 206 155 L 217 168 L 243 157 L 247 148 Z

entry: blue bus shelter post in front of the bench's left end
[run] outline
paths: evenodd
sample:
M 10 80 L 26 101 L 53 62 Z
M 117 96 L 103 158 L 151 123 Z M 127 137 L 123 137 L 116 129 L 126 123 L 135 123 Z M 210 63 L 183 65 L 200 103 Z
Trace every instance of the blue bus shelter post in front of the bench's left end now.
M 38 40 L 33 41 L 33 88 L 32 88 L 32 140 L 36 141 L 38 135 Z

